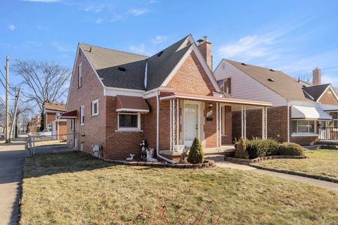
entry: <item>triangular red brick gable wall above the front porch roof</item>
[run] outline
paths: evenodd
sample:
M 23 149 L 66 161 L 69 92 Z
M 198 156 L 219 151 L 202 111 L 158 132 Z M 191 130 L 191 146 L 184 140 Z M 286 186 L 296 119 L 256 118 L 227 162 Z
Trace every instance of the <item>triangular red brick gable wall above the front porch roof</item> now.
M 168 86 L 172 87 L 173 91 L 205 96 L 212 96 L 213 91 L 215 91 L 211 80 L 194 52 L 184 61 Z

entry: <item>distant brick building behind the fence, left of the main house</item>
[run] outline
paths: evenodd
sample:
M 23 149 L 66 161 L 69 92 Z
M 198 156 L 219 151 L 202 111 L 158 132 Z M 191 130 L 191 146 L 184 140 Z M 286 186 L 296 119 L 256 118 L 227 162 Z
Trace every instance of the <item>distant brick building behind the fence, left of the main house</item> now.
M 54 140 L 66 139 L 67 120 L 60 118 L 62 113 L 65 113 L 65 104 L 44 103 L 44 129 L 51 132 Z

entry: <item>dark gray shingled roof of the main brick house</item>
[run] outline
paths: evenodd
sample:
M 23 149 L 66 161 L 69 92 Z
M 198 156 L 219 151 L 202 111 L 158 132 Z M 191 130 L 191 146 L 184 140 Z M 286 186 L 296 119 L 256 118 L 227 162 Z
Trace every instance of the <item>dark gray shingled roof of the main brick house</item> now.
M 180 49 L 180 46 L 182 46 L 187 37 L 164 49 L 161 56 L 158 56 L 156 53 L 151 57 L 115 51 L 89 44 L 80 43 L 80 46 L 105 86 L 151 90 L 161 86 L 165 78 L 173 71 L 175 65 L 180 62 L 184 53 L 187 52 L 189 46 Z M 144 74 L 146 63 L 147 85 L 145 88 Z M 119 67 L 125 68 L 125 71 L 119 70 Z

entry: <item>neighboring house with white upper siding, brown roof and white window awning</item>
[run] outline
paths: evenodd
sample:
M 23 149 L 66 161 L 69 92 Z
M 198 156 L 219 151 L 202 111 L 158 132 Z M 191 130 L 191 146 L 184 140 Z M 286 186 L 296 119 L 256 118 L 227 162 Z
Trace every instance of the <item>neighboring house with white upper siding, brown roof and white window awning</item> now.
M 331 84 L 320 84 L 320 70 L 313 70 L 313 86 L 281 71 L 223 59 L 214 71 L 227 96 L 268 101 L 268 137 L 302 145 L 328 139 L 326 127 L 338 127 L 338 98 Z M 261 137 L 261 113 L 246 112 L 246 136 Z M 233 135 L 241 136 L 239 113 L 233 113 Z M 325 136 L 326 135 L 326 136 Z

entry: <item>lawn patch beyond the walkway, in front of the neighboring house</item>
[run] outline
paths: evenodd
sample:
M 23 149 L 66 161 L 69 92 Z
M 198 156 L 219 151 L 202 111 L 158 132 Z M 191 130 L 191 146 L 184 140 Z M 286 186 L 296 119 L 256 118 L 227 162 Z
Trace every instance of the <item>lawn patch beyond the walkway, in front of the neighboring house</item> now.
M 253 165 L 338 181 L 338 150 L 315 150 L 305 153 L 308 155 L 308 160 L 269 160 L 253 163 Z

